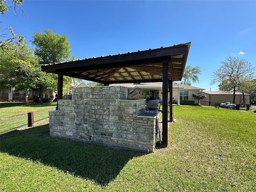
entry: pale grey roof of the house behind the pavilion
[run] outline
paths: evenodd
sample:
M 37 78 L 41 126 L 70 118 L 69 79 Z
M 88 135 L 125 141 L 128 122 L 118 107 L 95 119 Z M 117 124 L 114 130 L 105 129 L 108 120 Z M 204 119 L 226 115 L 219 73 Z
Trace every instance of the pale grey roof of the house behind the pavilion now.
M 158 88 L 162 89 L 163 83 L 162 82 L 149 82 L 149 83 L 122 83 L 122 84 L 110 84 L 110 86 L 124 86 L 128 88 Z M 193 87 L 185 84 L 180 83 L 172 83 L 172 88 L 180 88 L 180 89 L 196 89 L 196 90 L 204 90 L 202 88 Z

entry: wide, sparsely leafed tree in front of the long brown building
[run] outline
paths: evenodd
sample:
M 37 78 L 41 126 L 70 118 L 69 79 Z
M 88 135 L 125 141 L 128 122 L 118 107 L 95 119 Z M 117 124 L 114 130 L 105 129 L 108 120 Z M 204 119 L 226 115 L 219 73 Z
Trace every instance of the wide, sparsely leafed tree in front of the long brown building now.
M 236 99 L 236 90 L 241 90 L 244 96 L 244 86 L 254 78 L 255 67 L 244 59 L 235 57 L 225 58 L 220 62 L 222 66 L 212 75 L 211 84 L 219 84 L 220 90 L 233 91 L 233 103 Z

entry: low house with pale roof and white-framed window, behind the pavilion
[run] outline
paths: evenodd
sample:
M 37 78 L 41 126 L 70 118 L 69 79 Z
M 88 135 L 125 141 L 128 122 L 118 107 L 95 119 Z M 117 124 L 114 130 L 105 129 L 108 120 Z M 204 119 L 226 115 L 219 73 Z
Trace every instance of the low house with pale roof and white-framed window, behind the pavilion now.
M 162 84 L 162 82 L 150 82 L 110 84 L 110 86 L 124 86 L 128 89 L 128 94 L 135 88 L 140 88 L 141 99 L 147 99 L 147 101 L 158 99 L 160 102 L 162 102 Z M 175 100 L 178 104 L 180 104 L 180 100 L 194 100 L 192 93 L 202 90 L 204 89 L 175 82 L 172 83 L 172 97 L 173 100 Z

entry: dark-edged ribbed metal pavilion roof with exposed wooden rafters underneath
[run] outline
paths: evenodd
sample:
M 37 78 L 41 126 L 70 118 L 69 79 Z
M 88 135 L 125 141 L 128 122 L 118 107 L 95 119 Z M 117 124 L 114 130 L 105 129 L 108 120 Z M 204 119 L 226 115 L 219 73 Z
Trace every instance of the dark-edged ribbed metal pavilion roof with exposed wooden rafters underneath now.
M 41 65 L 42 71 L 63 74 L 103 84 L 162 82 L 163 63 L 168 63 L 168 79 L 182 79 L 191 42 L 166 48 L 126 54 L 86 58 Z

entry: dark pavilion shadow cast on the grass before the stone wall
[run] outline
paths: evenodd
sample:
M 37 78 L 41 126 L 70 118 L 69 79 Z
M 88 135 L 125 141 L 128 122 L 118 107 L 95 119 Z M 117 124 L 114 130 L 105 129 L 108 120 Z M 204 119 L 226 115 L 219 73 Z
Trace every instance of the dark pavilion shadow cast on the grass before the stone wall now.
M 1 137 L 1 152 L 106 185 L 126 163 L 144 153 L 50 138 L 49 124 Z

